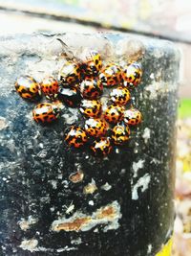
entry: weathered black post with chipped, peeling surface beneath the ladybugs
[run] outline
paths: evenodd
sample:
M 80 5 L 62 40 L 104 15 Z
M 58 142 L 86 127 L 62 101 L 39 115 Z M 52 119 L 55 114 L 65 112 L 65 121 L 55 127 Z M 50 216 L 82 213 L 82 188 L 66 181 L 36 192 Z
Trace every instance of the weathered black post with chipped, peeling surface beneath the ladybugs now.
M 81 122 L 77 109 L 62 109 L 52 126 L 32 121 L 33 104 L 16 94 L 14 81 L 23 74 L 37 81 L 57 75 L 63 49 L 56 38 L 75 55 L 94 47 L 105 61 L 143 54 L 143 79 L 134 96 L 144 121 L 128 147 L 104 159 L 68 149 L 63 131 Z M 145 256 L 159 251 L 174 221 L 178 77 L 179 53 L 167 41 L 129 35 L 0 38 L 1 255 Z M 73 182 L 74 175 L 79 182 Z M 91 193 L 84 193 L 90 184 Z

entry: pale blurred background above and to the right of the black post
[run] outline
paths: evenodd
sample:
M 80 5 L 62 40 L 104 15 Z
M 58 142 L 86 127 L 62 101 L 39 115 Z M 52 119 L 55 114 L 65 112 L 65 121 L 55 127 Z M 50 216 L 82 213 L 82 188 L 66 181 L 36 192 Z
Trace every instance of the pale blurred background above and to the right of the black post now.
M 0 0 L 0 35 L 127 32 L 172 40 L 180 48 L 173 256 L 191 256 L 191 1 Z

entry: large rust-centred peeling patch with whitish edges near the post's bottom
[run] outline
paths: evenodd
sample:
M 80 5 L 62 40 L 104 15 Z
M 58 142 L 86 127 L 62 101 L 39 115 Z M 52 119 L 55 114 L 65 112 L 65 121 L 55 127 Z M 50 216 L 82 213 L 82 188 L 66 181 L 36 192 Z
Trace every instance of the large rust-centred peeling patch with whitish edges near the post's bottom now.
M 55 232 L 59 232 L 60 230 L 79 232 L 88 231 L 96 225 L 105 224 L 106 226 L 103 231 L 107 232 L 110 229 L 118 228 L 118 220 L 120 218 L 120 205 L 116 200 L 106 206 L 100 207 L 92 215 L 86 215 L 77 211 L 69 219 L 60 218 L 59 220 L 53 221 L 51 228 Z

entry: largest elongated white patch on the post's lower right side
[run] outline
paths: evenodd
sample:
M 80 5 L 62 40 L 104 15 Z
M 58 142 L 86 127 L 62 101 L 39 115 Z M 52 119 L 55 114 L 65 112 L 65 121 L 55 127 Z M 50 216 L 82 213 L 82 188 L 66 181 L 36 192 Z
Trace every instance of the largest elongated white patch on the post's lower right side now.
M 138 179 L 136 185 L 132 188 L 132 199 L 138 200 L 138 189 L 143 193 L 146 189 L 148 189 L 149 182 L 151 180 L 151 176 L 146 174 Z

